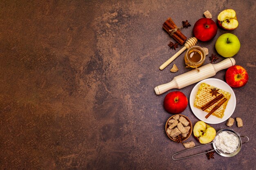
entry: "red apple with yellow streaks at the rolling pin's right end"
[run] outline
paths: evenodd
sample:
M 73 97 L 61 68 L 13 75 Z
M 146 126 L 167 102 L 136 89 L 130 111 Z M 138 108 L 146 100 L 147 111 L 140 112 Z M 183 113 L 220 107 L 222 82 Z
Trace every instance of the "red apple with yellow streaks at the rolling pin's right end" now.
M 227 69 L 225 79 L 229 86 L 238 88 L 248 82 L 249 76 L 245 68 L 235 65 Z

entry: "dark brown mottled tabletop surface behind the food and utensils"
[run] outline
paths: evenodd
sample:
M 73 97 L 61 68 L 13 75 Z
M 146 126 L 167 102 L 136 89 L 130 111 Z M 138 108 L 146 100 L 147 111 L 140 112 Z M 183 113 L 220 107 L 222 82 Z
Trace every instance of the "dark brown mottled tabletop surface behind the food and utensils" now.
M 173 161 L 184 147 L 166 136 L 167 93 L 153 89 L 189 69 L 182 56 L 173 62 L 178 72 L 158 69 L 175 53 L 162 24 L 170 16 L 177 25 L 189 20 L 192 26 L 182 29 L 189 38 L 204 11 L 216 20 L 227 8 L 236 11 L 238 29 L 218 29 L 213 40 L 198 44 L 211 55 L 219 35 L 238 36 L 234 58 L 249 82 L 234 88 L 232 117 L 244 126 L 231 128 L 250 141 L 235 157 Z M 255 169 L 255 1 L 2 0 L 0 9 L 0 169 Z M 180 91 L 189 98 L 193 86 Z M 198 121 L 189 106 L 182 114 Z

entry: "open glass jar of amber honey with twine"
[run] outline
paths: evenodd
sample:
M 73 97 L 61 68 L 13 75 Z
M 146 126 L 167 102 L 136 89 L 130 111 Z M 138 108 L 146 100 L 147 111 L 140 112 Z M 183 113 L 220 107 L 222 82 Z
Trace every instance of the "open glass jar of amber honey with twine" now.
M 204 63 L 204 50 L 200 46 L 192 46 L 186 51 L 184 60 L 187 67 L 198 68 Z

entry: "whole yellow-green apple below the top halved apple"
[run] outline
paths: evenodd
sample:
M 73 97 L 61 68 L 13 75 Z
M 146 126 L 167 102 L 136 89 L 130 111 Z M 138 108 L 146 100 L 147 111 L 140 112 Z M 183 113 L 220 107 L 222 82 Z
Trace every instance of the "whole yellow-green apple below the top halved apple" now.
M 240 41 L 236 35 L 225 33 L 217 39 L 215 48 L 223 57 L 233 57 L 240 49 Z

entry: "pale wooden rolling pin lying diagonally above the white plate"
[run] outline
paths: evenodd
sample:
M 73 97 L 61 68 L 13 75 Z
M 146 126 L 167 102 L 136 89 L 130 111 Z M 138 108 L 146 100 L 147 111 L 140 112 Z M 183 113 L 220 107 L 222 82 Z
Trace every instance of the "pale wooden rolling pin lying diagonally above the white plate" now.
M 192 71 L 174 77 L 171 82 L 156 86 L 155 93 L 157 95 L 161 95 L 164 92 L 171 90 L 173 88 L 181 89 L 183 87 L 199 82 L 203 79 L 212 77 L 216 75 L 218 71 L 234 66 L 235 64 L 236 61 L 232 57 L 227 58 L 217 64 L 207 64 L 205 66 L 200 67 L 199 72 L 196 69 L 194 69 Z

